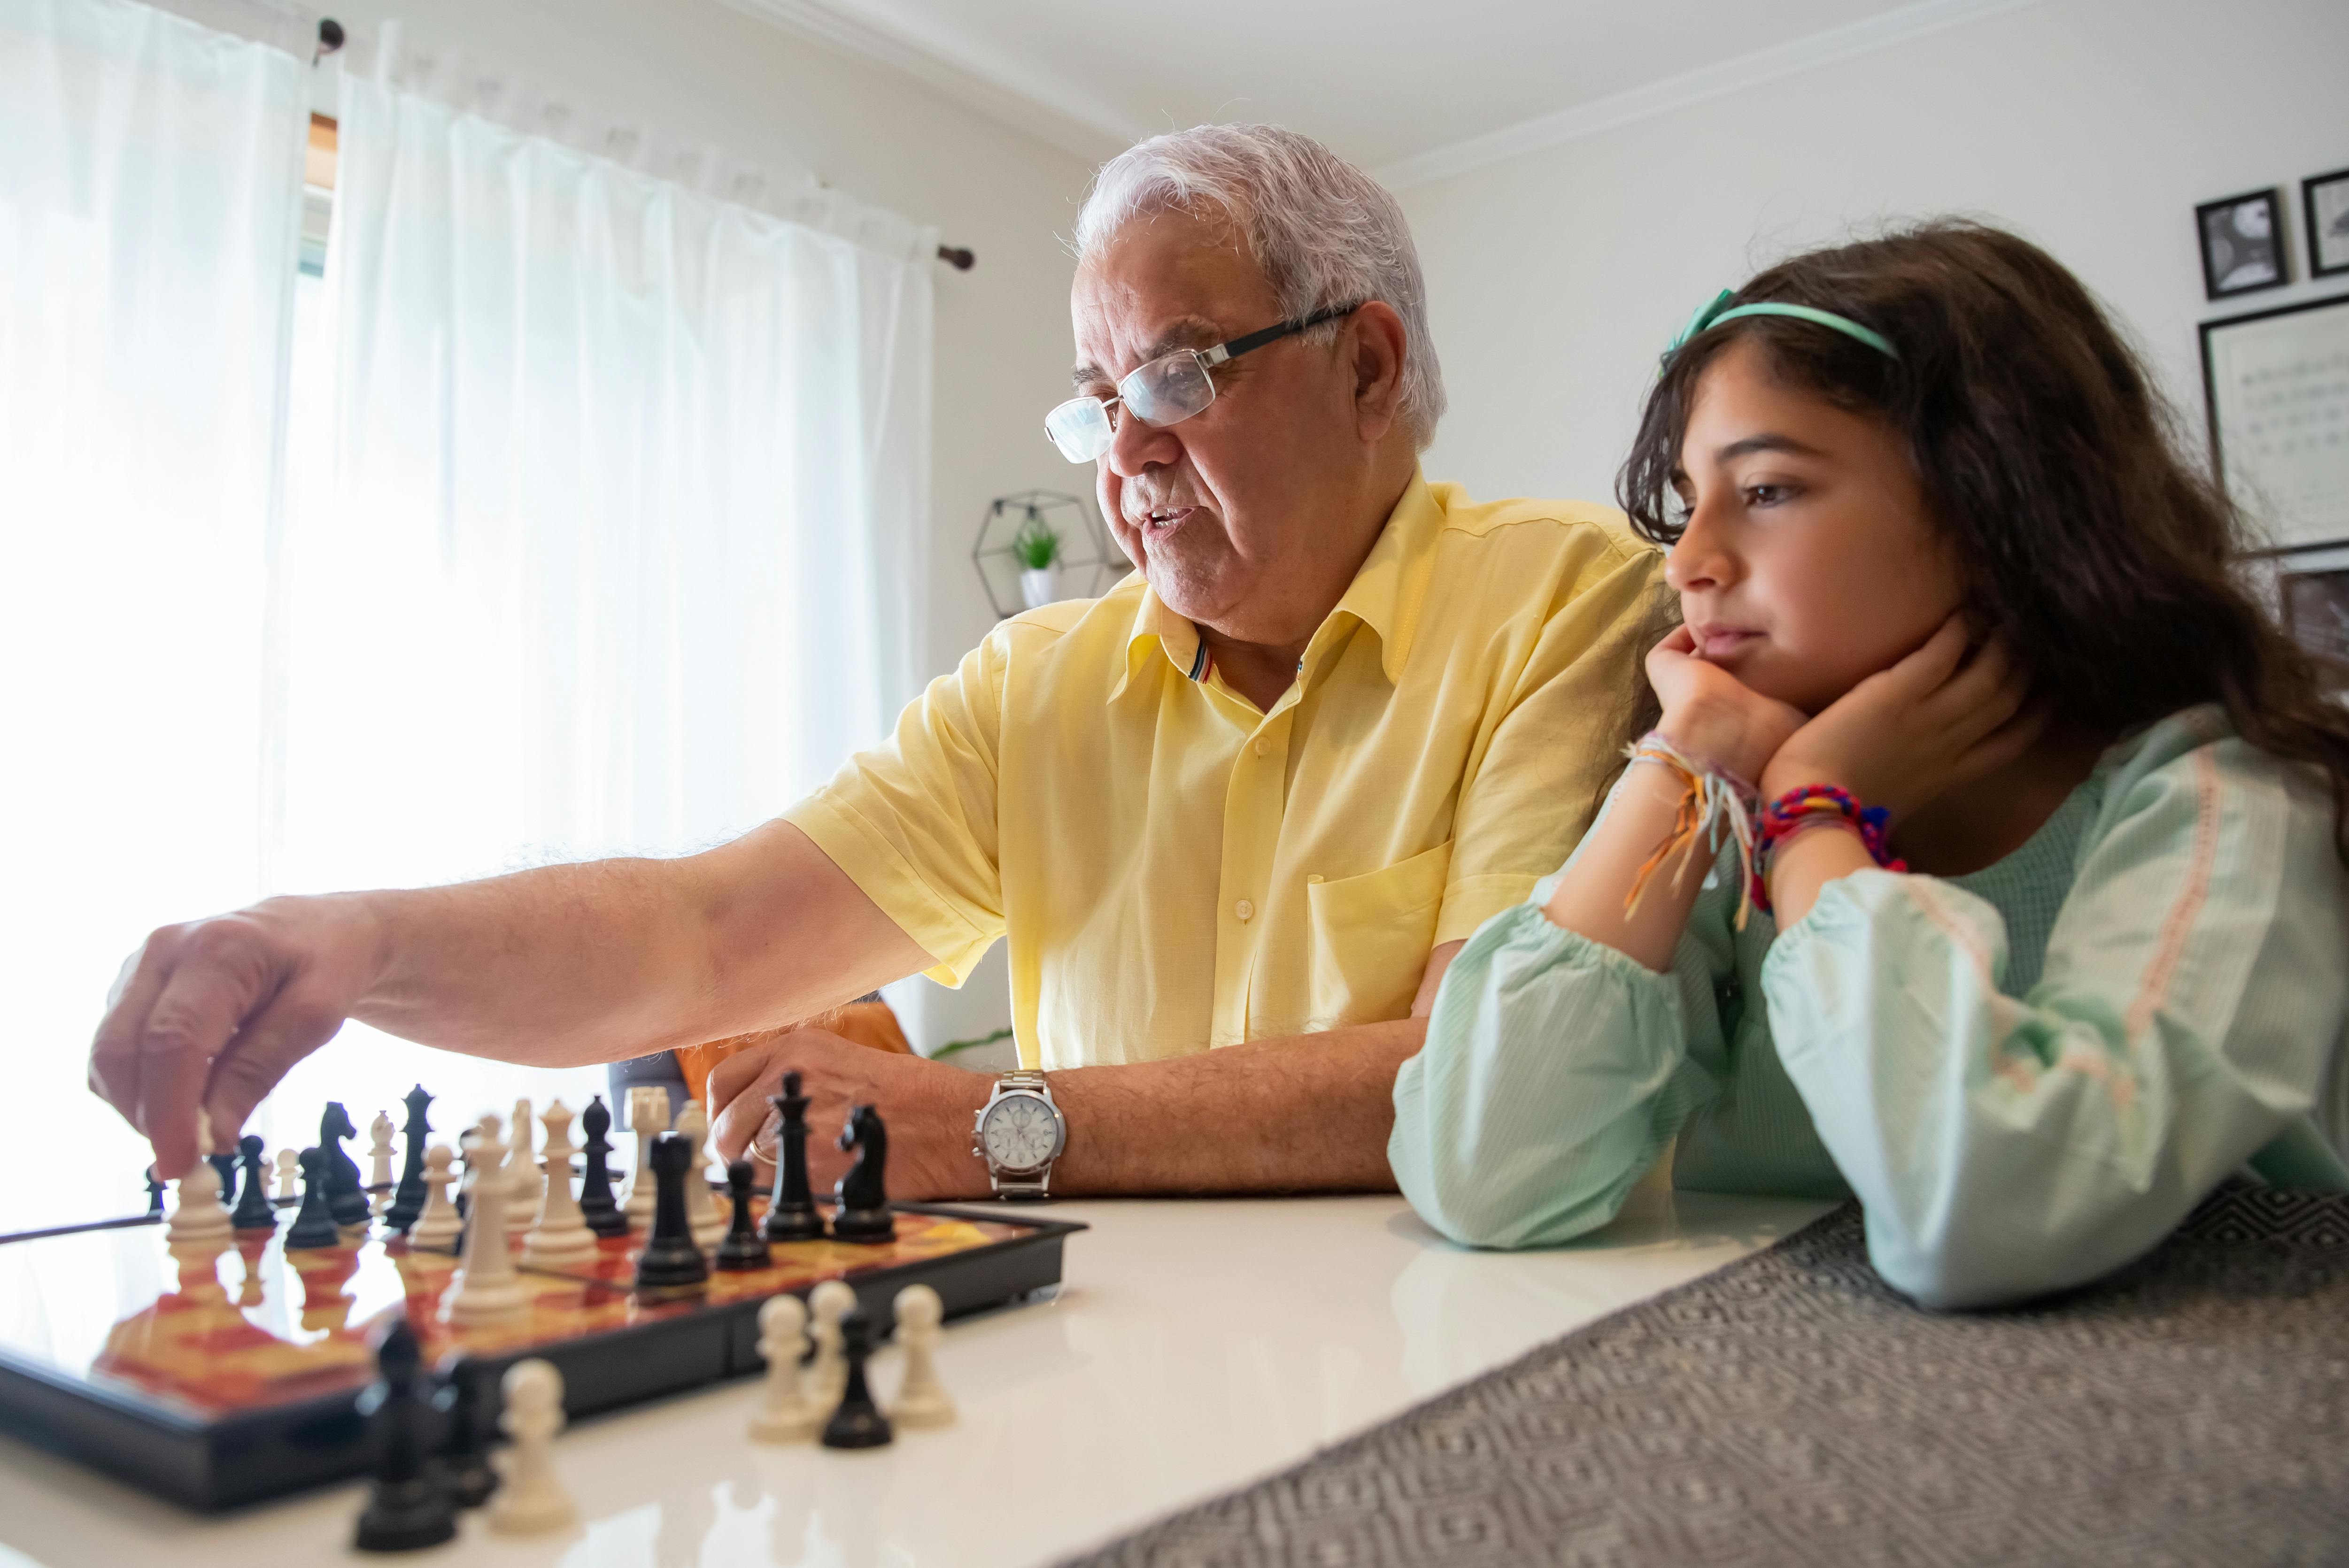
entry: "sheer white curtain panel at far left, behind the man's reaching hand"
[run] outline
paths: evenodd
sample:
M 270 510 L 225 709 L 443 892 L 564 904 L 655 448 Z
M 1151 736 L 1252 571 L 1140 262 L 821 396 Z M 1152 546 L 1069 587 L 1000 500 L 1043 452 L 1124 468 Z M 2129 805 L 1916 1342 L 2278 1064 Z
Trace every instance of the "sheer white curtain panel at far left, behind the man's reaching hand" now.
M 106 988 L 261 892 L 308 117 L 280 47 L 0 0 L 0 1230 L 134 1207 L 82 1084 Z

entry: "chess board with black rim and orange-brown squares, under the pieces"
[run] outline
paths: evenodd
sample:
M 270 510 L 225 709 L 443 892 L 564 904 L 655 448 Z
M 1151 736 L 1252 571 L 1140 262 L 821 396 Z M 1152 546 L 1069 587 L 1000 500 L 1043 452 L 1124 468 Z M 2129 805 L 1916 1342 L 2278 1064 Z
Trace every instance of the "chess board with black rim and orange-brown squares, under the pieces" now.
M 763 1209 L 763 1199 L 759 1199 Z M 712 1272 L 705 1289 L 637 1293 L 639 1237 L 599 1239 L 568 1268 L 521 1265 L 529 1305 L 489 1324 L 442 1317 L 458 1258 L 383 1232 L 287 1251 L 272 1235 L 171 1249 L 162 1225 L 89 1225 L 0 1242 L 0 1425 L 174 1502 L 223 1509 L 362 1474 L 357 1397 L 369 1331 L 404 1312 L 428 1364 L 496 1430 L 498 1378 L 521 1357 L 564 1376 L 571 1415 L 752 1373 L 759 1305 L 846 1279 L 890 1326 L 909 1284 L 947 1314 L 1059 1284 L 1083 1225 L 1017 1211 L 893 1204 L 897 1239 L 785 1242 L 773 1265 Z M 519 1263 L 521 1242 L 512 1242 Z

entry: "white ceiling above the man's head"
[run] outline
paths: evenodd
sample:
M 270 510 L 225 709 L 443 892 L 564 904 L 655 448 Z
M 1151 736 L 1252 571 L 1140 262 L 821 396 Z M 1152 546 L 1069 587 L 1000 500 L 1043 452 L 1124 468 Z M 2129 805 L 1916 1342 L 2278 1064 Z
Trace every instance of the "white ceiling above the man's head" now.
M 728 0 L 1088 160 L 1276 120 L 1388 183 L 2022 0 Z

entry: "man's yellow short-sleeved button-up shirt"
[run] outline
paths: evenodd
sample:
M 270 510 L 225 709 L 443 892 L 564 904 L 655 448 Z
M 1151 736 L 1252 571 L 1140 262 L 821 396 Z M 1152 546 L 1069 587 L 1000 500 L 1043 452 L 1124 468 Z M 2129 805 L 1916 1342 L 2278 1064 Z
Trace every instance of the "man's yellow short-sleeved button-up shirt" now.
M 1135 573 L 996 627 L 787 817 L 933 979 L 1010 937 L 1027 1066 L 1400 1019 L 1581 838 L 1661 570 L 1614 509 L 1414 474 L 1271 711 Z

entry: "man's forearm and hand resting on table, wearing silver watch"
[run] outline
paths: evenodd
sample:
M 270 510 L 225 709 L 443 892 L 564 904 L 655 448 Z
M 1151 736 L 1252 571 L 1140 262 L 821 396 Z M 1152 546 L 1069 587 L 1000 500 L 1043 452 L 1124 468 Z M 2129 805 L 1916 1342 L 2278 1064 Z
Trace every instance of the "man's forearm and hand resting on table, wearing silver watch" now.
M 1428 1009 L 1459 941 L 1428 955 L 1409 1019 L 1318 1035 L 1226 1045 L 1172 1061 L 1050 1073 L 1069 1117 L 1055 1195 L 1109 1192 L 1388 1192 L 1386 1136 L 1395 1122 L 1395 1070 L 1419 1052 Z M 815 1103 L 808 1124 L 839 1127 L 871 1103 L 890 1127 L 895 1197 L 984 1197 L 987 1167 L 970 1153 L 970 1122 L 994 1080 L 947 1063 L 886 1056 L 820 1028 L 801 1028 L 728 1056 L 709 1073 L 721 1160 L 749 1148 L 766 1096 L 799 1070 Z M 808 1141 L 808 1167 L 829 1185 L 846 1167 L 832 1138 Z

